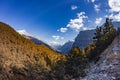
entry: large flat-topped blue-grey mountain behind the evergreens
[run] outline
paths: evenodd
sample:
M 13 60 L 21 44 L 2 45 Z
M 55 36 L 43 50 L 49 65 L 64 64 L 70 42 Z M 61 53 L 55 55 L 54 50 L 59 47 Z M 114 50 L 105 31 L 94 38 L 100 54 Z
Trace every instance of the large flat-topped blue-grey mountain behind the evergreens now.
M 80 49 L 85 48 L 88 44 L 93 42 L 94 33 L 95 30 L 80 31 L 75 38 L 73 46 L 78 46 Z

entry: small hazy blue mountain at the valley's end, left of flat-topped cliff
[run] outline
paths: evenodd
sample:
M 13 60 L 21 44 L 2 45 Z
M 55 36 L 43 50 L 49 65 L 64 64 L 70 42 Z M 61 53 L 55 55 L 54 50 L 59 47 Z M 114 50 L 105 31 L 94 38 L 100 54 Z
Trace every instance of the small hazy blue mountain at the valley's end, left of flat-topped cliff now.
M 73 43 L 74 41 L 68 41 L 63 46 L 58 48 L 58 50 L 63 54 L 67 54 L 72 49 Z

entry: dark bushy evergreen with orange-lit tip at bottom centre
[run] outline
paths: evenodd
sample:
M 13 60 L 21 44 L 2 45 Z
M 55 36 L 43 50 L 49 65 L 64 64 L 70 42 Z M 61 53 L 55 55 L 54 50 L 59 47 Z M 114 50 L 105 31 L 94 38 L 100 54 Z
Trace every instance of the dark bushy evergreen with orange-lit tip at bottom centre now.
M 66 61 L 65 72 L 68 79 L 84 76 L 87 59 L 77 46 L 69 52 Z

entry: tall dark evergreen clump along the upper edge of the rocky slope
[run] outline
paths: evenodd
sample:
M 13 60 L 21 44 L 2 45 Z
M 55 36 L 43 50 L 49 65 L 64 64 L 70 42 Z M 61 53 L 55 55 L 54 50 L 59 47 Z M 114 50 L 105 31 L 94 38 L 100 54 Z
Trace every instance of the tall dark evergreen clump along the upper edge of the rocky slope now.
M 97 27 L 93 37 L 95 48 L 90 51 L 90 59 L 99 59 L 99 55 L 112 43 L 116 37 L 116 29 L 112 24 L 112 19 L 106 18 L 104 27 Z

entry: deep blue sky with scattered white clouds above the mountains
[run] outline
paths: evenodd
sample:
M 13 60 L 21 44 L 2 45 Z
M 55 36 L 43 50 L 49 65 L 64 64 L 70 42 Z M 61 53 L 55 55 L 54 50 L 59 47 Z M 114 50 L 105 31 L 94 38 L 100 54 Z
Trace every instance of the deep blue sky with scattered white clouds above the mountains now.
M 0 0 L 0 21 L 49 44 L 74 40 L 106 17 L 120 21 L 120 0 Z

